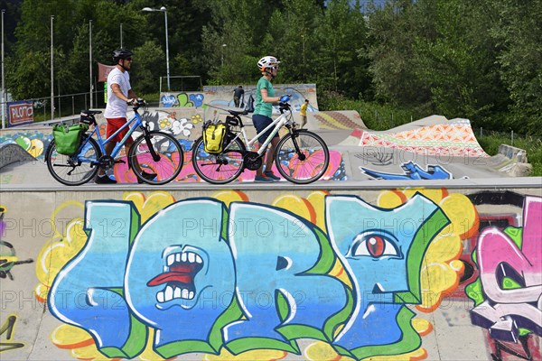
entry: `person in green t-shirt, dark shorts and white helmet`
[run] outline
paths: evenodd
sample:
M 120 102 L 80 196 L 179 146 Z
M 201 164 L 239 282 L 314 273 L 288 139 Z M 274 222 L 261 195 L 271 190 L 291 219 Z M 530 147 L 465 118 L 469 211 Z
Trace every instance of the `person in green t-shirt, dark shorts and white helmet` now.
M 273 123 L 271 115 L 273 113 L 273 104 L 278 103 L 280 97 L 275 96 L 275 90 L 271 84 L 271 80 L 275 79 L 278 72 L 278 64 L 280 61 L 276 60 L 273 56 L 266 56 L 257 62 L 257 68 L 262 72 L 262 78 L 257 82 L 256 87 L 256 105 L 254 106 L 254 114 L 252 115 L 252 123 L 256 127 L 257 133 L 260 133 L 266 129 L 267 125 Z M 258 143 L 260 147 L 266 142 L 267 137 L 273 128 L 266 131 L 258 137 Z M 278 143 L 278 133 L 275 134 L 271 140 L 271 146 L 266 154 L 266 161 L 262 163 L 262 166 L 256 171 L 256 181 L 276 181 L 280 180 L 273 171 L 271 166 L 273 165 L 273 154 L 275 153 L 276 144 Z M 264 171 L 264 165 L 266 171 Z

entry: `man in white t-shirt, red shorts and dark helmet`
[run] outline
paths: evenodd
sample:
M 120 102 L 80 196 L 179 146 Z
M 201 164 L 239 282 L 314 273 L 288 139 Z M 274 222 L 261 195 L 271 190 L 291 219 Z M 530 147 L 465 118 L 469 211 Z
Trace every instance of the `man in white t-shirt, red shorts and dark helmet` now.
M 132 51 L 127 49 L 117 49 L 113 51 L 113 60 L 116 67 L 107 75 L 107 106 L 104 116 L 107 120 L 107 138 L 115 134 L 117 130 L 126 124 L 126 111 L 128 104 L 135 106 L 137 104 L 137 96 L 130 86 L 130 75 L 128 71 L 132 67 Z M 118 142 L 122 141 L 128 131 L 128 127 L 120 131 L 114 138 L 111 139 L 105 146 L 106 153 L 111 154 Z M 134 143 L 134 139 L 130 136 L 126 139 L 126 154 L 130 152 L 130 147 Z M 136 166 L 139 166 L 136 164 Z M 145 178 L 154 179 L 156 174 L 143 172 Z M 114 184 L 117 180 L 112 180 L 107 177 L 105 171 L 98 171 L 96 182 L 99 184 Z M 139 181 L 141 182 L 141 181 Z

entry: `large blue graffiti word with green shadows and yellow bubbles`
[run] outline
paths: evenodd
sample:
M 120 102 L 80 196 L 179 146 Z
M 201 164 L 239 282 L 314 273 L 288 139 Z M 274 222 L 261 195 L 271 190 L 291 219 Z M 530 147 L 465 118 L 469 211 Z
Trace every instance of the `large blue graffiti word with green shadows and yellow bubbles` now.
M 45 296 L 61 328 L 85 331 L 62 341 L 59 330 L 54 343 L 156 359 L 266 348 L 300 354 L 296 340 L 313 338 L 320 341 L 307 354 L 423 356 L 420 335 L 431 326 L 405 305 L 435 307 L 425 305 L 422 260 L 453 233 L 454 207 L 464 200 L 426 194 L 383 195 L 381 207 L 325 192 L 270 206 L 239 191 L 87 201 Z M 387 267 L 400 272 L 382 278 Z

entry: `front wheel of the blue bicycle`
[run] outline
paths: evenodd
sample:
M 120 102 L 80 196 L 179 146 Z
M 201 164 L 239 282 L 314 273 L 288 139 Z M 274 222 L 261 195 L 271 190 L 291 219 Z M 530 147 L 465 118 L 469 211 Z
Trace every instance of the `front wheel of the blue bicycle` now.
M 152 131 L 148 133 L 152 143 L 155 159 L 145 140 L 140 135 L 130 147 L 128 166 L 134 171 L 138 180 L 148 184 L 165 184 L 175 179 L 182 170 L 184 153 L 181 144 L 171 134 Z M 156 174 L 149 179 L 148 174 Z

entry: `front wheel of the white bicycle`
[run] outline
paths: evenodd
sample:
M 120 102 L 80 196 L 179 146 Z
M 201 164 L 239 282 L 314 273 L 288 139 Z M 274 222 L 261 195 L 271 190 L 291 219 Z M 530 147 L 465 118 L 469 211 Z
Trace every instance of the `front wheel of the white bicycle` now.
M 286 134 L 276 145 L 276 169 L 286 180 L 296 184 L 319 180 L 329 162 L 330 151 L 323 139 L 304 129 Z

